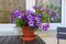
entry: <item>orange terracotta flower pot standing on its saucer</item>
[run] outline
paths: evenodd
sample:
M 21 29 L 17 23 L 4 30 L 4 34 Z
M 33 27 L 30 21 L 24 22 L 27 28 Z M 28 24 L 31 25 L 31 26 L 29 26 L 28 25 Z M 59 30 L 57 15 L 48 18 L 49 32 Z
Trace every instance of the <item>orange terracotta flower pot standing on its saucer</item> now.
M 22 31 L 23 31 L 23 36 L 24 37 L 32 37 L 34 36 L 34 30 L 30 30 L 29 26 L 24 26 L 22 28 Z

